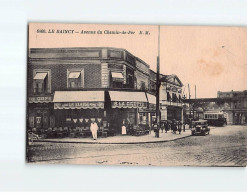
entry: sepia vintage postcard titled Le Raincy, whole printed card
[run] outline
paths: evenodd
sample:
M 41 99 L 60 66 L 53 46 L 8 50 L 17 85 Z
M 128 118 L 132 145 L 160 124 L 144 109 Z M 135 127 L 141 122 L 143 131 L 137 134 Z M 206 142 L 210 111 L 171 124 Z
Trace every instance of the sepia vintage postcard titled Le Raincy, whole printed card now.
M 28 31 L 28 163 L 246 166 L 246 27 Z

